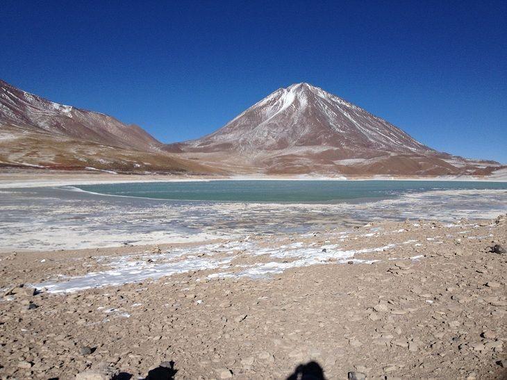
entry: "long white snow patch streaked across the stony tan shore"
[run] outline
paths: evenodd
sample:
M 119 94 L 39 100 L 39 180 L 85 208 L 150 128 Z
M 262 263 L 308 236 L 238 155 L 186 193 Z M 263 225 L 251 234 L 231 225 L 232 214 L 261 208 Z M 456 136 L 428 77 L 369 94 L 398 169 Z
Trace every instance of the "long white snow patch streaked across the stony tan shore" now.
M 336 245 L 332 246 L 335 247 Z M 327 247 L 331 247 L 331 245 Z M 373 263 L 374 261 L 354 258 L 354 255 L 385 251 L 392 247 L 395 247 L 395 245 L 345 251 L 329 248 L 324 251 L 322 247 L 304 247 L 303 242 L 294 242 L 277 248 L 259 248 L 255 242 L 236 240 L 225 244 L 215 243 L 174 249 L 161 254 L 145 253 L 135 256 L 120 256 L 108 263 L 105 262 L 107 258 L 102 256 L 96 258 L 97 262 L 112 269 L 89 272 L 83 276 L 61 278 L 60 281 L 46 281 L 35 284 L 34 287 L 44 289 L 49 293 L 68 293 L 102 286 L 120 286 L 125 283 L 153 281 L 163 276 L 191 271 L 229 270 L 231 269 L 231 262 L 237 257 L 238 252 L 244 252 L 249 256 L 267 255 L 270 258 L 292 259 L 292 261 L 283 263 L 271 261 L 268 263 L 236 265 L 236 267 L 242 267 L 243 269 L 240 272 L 222 271 L 208 275 L 209 279 L 242 276 L 258 279 L 282 273 L 290 268 L 322 263 L 347 263 L 351 260 L 356 263 Z M 216 255 L 222 257 L 215 258 Z

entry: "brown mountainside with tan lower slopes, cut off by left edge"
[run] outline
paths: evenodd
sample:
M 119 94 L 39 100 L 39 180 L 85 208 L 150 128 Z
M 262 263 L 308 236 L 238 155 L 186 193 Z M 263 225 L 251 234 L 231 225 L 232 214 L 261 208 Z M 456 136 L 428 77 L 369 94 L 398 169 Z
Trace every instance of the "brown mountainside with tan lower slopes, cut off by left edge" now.
M 0 80 L 0 166 L 213 172 L 161 150 L 144 129 L 64 106 Z

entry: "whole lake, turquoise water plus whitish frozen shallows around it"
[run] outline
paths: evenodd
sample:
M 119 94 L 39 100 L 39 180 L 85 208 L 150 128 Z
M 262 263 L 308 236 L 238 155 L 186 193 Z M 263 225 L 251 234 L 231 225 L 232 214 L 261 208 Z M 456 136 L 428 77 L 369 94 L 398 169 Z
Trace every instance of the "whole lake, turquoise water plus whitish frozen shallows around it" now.
M 506 212 L 507 183 L 209 181 L 12 188 L 0 190 L 0 251 L 203 242 L 378 220 L 490 219 Z

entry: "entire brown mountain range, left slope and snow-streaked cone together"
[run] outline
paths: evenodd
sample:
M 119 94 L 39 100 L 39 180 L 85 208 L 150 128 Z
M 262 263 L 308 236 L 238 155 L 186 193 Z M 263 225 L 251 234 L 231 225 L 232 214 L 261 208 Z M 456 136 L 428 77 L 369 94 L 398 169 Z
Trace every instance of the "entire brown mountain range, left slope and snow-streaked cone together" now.
M 139 126 L 4 81 L 0 166 L 358 176 L 489 175 L 502 168 L 435 151 L 308 83 L 276 90 L 210 135 L 165 145 Z

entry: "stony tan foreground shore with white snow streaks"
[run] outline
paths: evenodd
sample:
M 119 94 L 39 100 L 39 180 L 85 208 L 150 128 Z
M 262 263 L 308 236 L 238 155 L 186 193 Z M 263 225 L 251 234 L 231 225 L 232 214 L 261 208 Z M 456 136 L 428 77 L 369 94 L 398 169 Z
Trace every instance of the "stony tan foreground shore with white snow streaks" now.
M 1 254 L 0 376 L 501 379 L 506 239 L 498 218 Z

